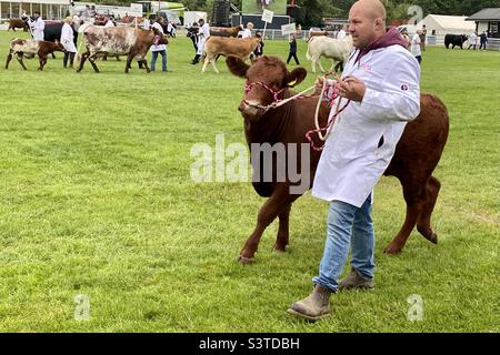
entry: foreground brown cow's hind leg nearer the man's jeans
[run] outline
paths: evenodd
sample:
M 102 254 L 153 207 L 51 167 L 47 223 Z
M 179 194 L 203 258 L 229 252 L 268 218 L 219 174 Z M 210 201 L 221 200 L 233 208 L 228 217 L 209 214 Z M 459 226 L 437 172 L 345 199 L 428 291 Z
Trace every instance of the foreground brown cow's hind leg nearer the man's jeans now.
M 404 201 L 407 202 L 407 215 L 401 230 L 383 251 L 387 254 L 396 254 L 402 251 L 427 204 L 424 182 L 409 178 L 401 180 L 401 184 L 403 186 Z

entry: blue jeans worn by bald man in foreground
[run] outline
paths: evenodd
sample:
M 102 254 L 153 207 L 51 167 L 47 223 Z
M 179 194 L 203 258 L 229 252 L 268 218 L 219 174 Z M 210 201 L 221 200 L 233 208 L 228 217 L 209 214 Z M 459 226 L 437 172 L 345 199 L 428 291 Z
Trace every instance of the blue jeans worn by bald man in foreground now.
M 314 284 L 337 292 L 338 278 L 351 246 L 351 267 L 361 277 L 373 278 L 374 232 L 371 220 L 371 196 L 358 209 L 349 203 L 332 201 L 328 211 L 327 242 Z

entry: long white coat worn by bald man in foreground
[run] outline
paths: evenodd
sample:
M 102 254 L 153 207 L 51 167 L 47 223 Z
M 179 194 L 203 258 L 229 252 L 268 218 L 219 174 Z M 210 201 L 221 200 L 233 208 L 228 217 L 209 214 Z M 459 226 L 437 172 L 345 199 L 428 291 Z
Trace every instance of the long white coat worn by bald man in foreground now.
M 357 54 L 351 54 L 342 77 L 362 80 L 364 98 L 351 101 L 337 118 L 312 195 L 360 207 L 389 165 L 407 122 L 420 113 L 420 65 L 401 45 L 372 50 L 354 63 Z

